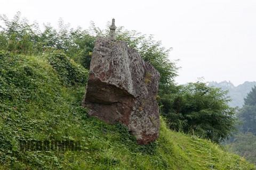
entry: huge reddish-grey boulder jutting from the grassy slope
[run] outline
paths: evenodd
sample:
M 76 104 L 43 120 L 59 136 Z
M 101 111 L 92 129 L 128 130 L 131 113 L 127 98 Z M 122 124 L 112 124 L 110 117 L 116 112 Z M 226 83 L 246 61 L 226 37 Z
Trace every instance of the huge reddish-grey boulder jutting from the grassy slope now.
M 139 144 L 159 133 L 159 73 L 124 41 L 97 38 L 83 106 L 89 115 L 128 126 Z

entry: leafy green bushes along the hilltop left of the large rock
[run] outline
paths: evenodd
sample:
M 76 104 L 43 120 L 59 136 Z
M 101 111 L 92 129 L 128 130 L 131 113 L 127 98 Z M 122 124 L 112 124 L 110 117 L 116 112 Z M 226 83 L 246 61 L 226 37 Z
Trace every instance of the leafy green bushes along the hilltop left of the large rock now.
M 75 62 L 89 69 L 95 37 L 88 31 L 80 27 L 69 29 L 69 24 L 65 24 L 62 19 L 59 20 L 58 30 L 50 24 L 44 24 L 44 30 L 41 31 L 38 23 L 29 24 L 26 18 L 21 18 L 20 12 L 12 20 L 0 15 L 0 20 L 4 23 L 0 25 L 0 49 L 26 55 L 62 50 Z

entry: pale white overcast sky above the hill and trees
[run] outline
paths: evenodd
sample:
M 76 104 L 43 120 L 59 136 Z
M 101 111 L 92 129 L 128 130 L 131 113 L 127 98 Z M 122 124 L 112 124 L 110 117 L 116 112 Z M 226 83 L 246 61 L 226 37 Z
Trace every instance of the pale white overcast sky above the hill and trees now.
M 256 81 L 255 0 L 1 0 L 0 14 L 15 13 L 30 22 L 58 25 L 59 18 L 71 27 L 89 28 L 90 21 L 105 29 L 112 18 L 116 26 L 154 35 L 170 60 L 180 61 L 179 84 L 231 81 L 236 86 Z

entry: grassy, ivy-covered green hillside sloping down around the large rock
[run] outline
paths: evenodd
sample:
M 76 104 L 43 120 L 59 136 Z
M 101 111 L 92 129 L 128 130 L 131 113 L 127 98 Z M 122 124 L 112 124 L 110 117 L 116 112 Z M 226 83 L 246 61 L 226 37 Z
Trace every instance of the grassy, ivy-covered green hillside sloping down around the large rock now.
M 0 169 L 255 169 L 207 140 L 173 132 L 138 146 L 120 124 L 86 116 L 88 71 L 61 53 L 0 51 Z M 79 141 L 76 151 L 22 150 L 21 141 Z

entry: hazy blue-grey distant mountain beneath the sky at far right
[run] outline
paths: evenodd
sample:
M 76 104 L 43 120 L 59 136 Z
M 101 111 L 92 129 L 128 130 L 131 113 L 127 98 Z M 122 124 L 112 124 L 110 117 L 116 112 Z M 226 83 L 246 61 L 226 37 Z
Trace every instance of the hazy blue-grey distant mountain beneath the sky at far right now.
M 243 84 L 240 84 L 238 86 L 234 86 L 233 83 L 230 81 L 222 81 L 222 82 L 215 82 L 212 81 L 209 83 L 208 86 L 213 86 L 217 88 L 221 88 L 222 90 L 229 90 L 229 96 L 233 99 L 229 103 L 229 106 L 231 107 L 243 107 L 244 104 L 244 98 L 247 96 L 247 94 L 252 90 L 252 87 L 256 86 L 256 81 L 249 82 L 246 81 Z

